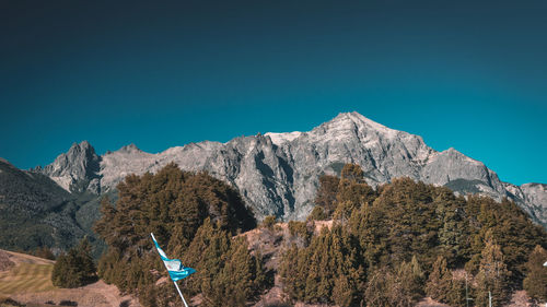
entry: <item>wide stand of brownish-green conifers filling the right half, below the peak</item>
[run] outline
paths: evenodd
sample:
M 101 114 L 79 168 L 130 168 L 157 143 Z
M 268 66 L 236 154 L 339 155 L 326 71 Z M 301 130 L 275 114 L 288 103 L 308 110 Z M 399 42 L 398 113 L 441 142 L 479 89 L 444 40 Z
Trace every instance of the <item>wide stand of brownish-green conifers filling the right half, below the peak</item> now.
M 328 179 L 330 187 L 335 181 Z M 333 191 L 336 201 L 324 201 L 334 199 Z M 374 191 L 358 165 L 346 165 L 337 188 L 323 188 L 321 193 L 321 203 L 337 205 L 336 232 L 287 249 L 279 270 L 286 293 L 295 300 L 414 306 L 427 293 L 450 306 L 466 306 L 468 279 L 468 294 L 476 299 L 472 303 L 484 306 L 491 291 L 499 306 L 521 285 L 524 273 L 533 271 L 526 264 L 532 249 L 547 246 L 547 233 L 514 202 L 455 197 L 445 187 L 409 178 L 394 179 Z M 317 208 L 309 220 L 323 217 L 325 205 Z M 289 224 L 289 228 L 291 234 L 296 228 L 303 233 L 304 225 Z M 351 250 L 345 251 L 351 264 L 331 260 L 339 249 Z

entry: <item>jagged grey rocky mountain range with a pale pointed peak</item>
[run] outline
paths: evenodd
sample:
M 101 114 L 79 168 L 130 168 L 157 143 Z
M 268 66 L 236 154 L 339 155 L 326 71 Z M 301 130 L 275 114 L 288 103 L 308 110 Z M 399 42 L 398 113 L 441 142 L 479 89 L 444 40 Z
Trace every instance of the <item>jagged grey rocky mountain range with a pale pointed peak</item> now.
M 309 132 L 266 133 L 226 143 L 200 142 L 158 154 L 135 145 L 98 157 L 88 142 L 74 144 L 37 172 L 70 191 L 107 192 L 128 174 L 154 173 L 170 162 L 186 170 L 207 170 L 242 193 L 258 219 L 275 214 L 302 220 L 313 208 L 318 177 L 339 174 L 346 163 L 362 166 L 372 186 L 395 177 L 449 186 L 459 193 L 509 197 L 547 225 L 546 186 L 501 182 L 485 164 L 454 149 L 437 152 L 421 137 L 397 131 L 360 114 L 340 114 Z

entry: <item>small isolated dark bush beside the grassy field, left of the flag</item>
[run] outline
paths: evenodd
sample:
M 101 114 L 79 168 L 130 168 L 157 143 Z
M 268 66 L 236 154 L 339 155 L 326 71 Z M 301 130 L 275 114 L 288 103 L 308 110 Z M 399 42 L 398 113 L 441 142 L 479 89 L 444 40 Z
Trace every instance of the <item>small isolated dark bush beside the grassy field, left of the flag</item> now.
M 79 287 L 96 280 L 96 269 L 91 257 L 88 238 L 77 248 L 60 255 L 51 273 L 51 282 L 59 287 Z

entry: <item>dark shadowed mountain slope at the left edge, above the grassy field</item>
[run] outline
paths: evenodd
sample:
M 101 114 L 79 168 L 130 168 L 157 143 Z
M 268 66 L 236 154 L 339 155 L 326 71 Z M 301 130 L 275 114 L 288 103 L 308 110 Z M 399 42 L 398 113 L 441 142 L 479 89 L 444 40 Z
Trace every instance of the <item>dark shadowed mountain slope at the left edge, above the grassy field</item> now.
M 72 217 L 72 199 L 47 176 L 0 160 L 0 246 L 24 250 L 71 246 L 84 233 Z

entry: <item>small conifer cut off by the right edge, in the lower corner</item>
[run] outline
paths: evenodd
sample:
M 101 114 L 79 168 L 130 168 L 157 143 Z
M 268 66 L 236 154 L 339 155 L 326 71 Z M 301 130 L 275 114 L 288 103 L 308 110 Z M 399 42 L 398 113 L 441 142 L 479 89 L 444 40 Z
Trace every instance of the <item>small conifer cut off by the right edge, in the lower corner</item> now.
M 536 246 L 525 264 L 526 278 L 523 281 L 523 287 L 536 300 L 547 300 L 547 268 L 543 265 L 546 262 L 547 250 Z

